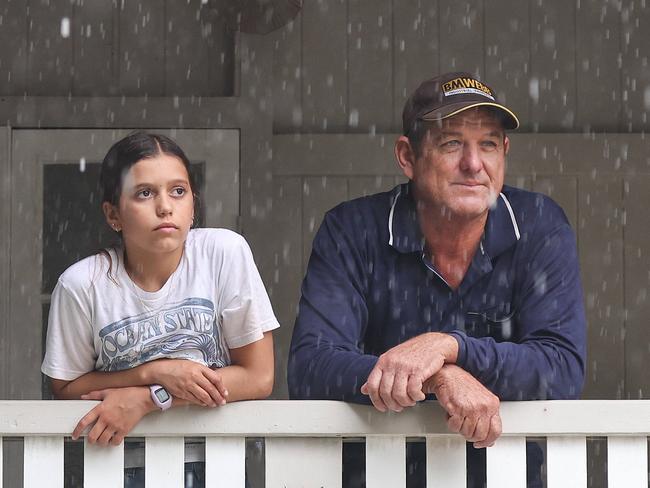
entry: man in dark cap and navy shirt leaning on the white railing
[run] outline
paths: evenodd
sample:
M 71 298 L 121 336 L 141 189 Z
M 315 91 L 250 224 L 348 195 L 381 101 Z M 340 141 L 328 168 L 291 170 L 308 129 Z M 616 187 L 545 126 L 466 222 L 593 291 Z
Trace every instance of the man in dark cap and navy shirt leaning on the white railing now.
M 503 186 L 518 126 L 467 73 L 415 90 L 395 143 L 409 183 L 337 206 L 314 239 L 292 398 L 401 411 L 435 393 L 449 429 L 481 448 L 501 433 L 500 400 L 578 397 L 575 238 L 552 200 Z

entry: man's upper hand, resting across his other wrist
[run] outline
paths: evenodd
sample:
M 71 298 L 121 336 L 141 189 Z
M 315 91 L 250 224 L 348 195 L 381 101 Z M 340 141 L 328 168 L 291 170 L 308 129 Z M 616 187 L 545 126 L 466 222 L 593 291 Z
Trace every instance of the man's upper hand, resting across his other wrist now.
M 424 400 L 423 383 L 445 363 L 458 356 L 458 342 L 452 336 L 429 332 L 409 339 L 384 354 L 361 387 L 380 412 L 401 412 Z

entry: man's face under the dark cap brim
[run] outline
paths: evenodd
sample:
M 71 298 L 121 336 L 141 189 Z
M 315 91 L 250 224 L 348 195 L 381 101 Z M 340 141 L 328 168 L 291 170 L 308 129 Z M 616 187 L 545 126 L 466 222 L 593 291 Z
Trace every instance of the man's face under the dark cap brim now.
M 403 169 L 420 205 L 472 219 L 484 215 L 501 191 L 508 145 L 497 117 L 470 109 L 433 127 L 414 164 Z

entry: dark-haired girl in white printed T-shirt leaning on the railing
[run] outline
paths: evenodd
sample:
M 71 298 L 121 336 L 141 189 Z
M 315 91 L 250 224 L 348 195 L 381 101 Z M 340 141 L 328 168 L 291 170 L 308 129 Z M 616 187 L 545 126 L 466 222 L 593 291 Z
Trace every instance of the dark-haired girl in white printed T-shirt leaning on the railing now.
M 41 368 L 56 398 L 101 400 L 72 437 L 119 445 L 155 410 L 267 397 L 278 321 L 246 241 L 190 230 L 196 191 L 180 147 L 132 133 L 100 182 L 122 244 L 59 278 Z

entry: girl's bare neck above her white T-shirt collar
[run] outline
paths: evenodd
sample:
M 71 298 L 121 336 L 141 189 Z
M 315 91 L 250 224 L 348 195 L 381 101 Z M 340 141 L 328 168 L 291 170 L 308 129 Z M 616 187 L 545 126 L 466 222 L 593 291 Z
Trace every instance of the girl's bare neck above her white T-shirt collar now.
M 133 282 L 148 292 L 160 290 L 178 268 L 183 247 L 171 252 L 152 254 L 139 249 L 124 250 L 124 267 Z

